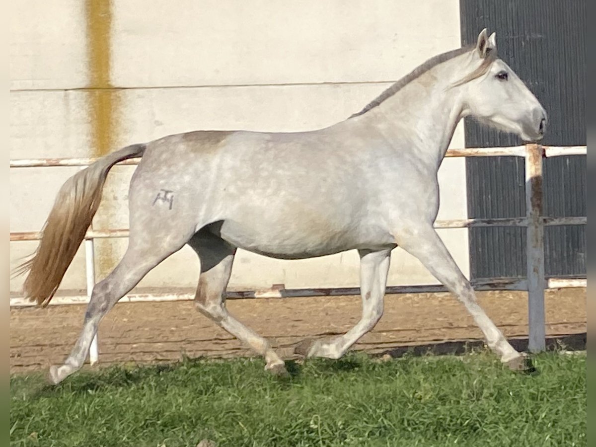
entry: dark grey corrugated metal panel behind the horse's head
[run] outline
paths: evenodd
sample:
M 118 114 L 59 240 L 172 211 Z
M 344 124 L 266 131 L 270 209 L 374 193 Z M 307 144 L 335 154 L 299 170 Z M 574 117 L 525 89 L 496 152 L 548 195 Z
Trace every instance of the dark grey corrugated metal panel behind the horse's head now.
M 585 0 L 460 0 L 462 44 L 476 42 L 484 27 L 497 33 L 499 54 L 526 82 L 549 114 L 544 144 L 586 144 Z M 465 125 L 467 147 L 518 145 L 516 136 Z M 545 160 L 547 216 L 586 215 L 585 157 Z M 468 215 L 471 218 L 522 216 L 523 160 L 469 158 Z M 584 226 L 545 231 L 547 275 L 585 275 Z M 471 228 L 471 275 L 523 277 L 525 230 Z

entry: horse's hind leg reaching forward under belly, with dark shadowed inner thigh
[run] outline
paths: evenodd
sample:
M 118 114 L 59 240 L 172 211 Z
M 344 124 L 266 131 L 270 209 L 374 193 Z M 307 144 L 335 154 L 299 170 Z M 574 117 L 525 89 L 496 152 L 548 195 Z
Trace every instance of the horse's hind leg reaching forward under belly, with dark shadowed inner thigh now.
M 284 361 L 269 342 L 235 319 L 226 309 L 224 292 L 232 271 L 235 247 L 206 230 L 197 232 L 188 245 L 193 247 L 201 261 L 201 275 L 195 295 L 197 310 L 265 357 L 265 370 L 287 374 Z

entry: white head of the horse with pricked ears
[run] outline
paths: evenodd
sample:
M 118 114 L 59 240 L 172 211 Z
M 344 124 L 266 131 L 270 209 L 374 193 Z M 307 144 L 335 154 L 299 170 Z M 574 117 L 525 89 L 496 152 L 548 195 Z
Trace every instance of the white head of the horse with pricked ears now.
M 469 74 L 455 86 L 462 89 L 464 116 L 505 132 L 517 134 L 524 141 L 542 139 L 547 112 L 511 68 L 496 56 L 495 33 L 486 29 L 478 36 L 470 52 Z

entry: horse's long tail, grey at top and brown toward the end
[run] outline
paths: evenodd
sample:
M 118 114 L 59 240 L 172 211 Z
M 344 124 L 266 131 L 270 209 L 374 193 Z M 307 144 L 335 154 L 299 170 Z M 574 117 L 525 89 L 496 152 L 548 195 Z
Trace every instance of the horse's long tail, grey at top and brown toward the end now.
M 23 284 L 27 299 L 48 305 L 100 206 L 108 171 L 122 160 L 141 157 L 144 151 L 144 144 L 125 147 L 64 182 L 45 221 L 38 249 L 15 270 L 16 275 L 27 273 Z

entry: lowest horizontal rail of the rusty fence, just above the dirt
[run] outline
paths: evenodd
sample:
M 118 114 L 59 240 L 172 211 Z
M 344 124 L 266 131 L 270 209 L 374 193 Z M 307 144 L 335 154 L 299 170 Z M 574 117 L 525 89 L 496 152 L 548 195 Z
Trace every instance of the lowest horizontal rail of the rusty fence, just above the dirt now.
M 585 278 L 549 278 L 547 288 L 575 288 L 586 287 L 588 280 Z M 501 278 L 496 280 L 472 281 L 476 291 L 525 291 L 527 290 L 527 281 Z M 448 290 L 439 284 L 426 285 L 390 285 L 387 286 L 386 294 L 405 294 L 405 293 L 441 293 Z M 293 288 L 278 289 L 270 288 L 264 290 L 245 290 L 228 291 L 226 299 L 285 299 L 316 296 L 349 296 L 359 295 L 358 287 L 337 287 L 337 288 Z M 167 301 L 189 301 L 194 299 L 194 293 L 131 293 L 123 296 L 120 303 L 145 303 L 145 302 L 167 302 Z M 85 304 L 89 302 L 89 297 L 81 294 L 76 296 L 56 296 L 49 302 L 50 305 L 69 305 Z M 23 297 L 11 297 L 11 307 L 30 307 L 35 303 L 24 299 Z

